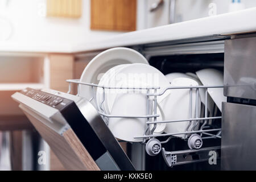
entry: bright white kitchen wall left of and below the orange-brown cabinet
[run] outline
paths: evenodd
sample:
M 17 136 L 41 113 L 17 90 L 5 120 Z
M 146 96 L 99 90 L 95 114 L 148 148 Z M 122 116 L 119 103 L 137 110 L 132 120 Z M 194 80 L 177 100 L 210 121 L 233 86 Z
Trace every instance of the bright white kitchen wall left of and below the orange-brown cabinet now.
M 79 19 L 46 18 L 46 0 L 0 0 L 0 41 L 18 44 L 72 44 L 121 32 L 90 30 L 90 0 Z

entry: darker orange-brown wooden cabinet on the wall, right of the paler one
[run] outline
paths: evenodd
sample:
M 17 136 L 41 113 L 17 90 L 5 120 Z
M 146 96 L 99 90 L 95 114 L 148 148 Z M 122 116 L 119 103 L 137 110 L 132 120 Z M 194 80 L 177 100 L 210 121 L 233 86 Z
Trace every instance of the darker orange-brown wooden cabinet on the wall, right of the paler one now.
M 90 6 L 92 30 L 136 30 L 136 0 L 91 0 Z

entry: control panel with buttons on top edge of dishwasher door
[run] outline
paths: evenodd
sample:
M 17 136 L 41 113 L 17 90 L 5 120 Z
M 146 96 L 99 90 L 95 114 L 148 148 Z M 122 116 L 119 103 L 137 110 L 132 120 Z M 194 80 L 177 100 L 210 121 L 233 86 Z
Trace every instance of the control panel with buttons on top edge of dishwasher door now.
M 20 93 L 59 110 L 64 109 L 68 104 L 71 104 L 71 102 L 73 102 L 71 100 L 68 100 L 67 98 L 59 97 L 54 94 L 31 88 L 23 89 L 22 91 L 20 91 Z

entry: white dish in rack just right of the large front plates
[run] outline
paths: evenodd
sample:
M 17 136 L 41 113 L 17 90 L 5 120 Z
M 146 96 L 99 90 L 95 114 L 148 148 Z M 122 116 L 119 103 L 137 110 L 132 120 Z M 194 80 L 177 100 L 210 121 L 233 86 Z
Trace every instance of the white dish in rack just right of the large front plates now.
M 172 80 L 171 86 L 197 86 L 198 83 L 191 78 L 175 78 Z M 167 121 L 178 120 L 178 119 L 188 119 L 191 118 L 189 115 L 189 89 L 172 89 L 170 95 L 159 105 L 163 109 L 164 117 Z M 192 118 L 196 115 L 196 90 L 193 89 L 192 92 Z M 200 103 L 199 97 L 199 103 Z M 198 116 L 200 116 L 200 104 L 198 108 Z M 189 121 L 185 122 L 172 122 L 166 124 L 166 133 L 181 133 L 187 129 Z M 191 127 L 195 126 L 195 122 L 192 122 Z M 184 137 L 185 134 L 176 135 L 177 137 Z

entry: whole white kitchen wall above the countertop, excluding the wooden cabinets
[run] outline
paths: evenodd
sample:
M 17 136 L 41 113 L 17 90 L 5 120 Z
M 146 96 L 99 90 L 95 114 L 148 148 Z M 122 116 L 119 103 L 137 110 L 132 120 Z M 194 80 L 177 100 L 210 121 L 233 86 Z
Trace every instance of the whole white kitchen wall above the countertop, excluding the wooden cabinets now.
M 137 30 L 168 24 L 168 7 L 149 13 L 158 0 L 137 1 Z M 165 6 L 168 1 L 164 0 Z M 209 4 L 215 3 L 217 14 L 227 13 L 232 0 L 176 0 L 175 22 L 203 18 Z M 242 0 L 245 7 L 255 7 L 255 0 Z M 65 45 L 104 39 L 123 32 L 91 31 L 90 0 L 82 0 L 79 19 L 46 18 L 46 0 L 0 0 L 0 44 Z

